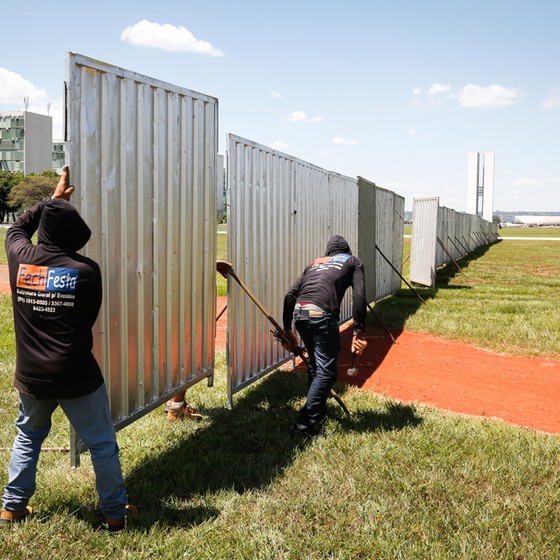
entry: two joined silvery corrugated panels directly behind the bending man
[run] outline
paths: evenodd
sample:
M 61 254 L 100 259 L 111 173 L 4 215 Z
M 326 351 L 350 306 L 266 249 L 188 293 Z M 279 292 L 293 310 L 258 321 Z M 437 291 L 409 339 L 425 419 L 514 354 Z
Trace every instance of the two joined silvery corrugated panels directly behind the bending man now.
M 328 239 L 358 246 L 358 186 L 238 136 L 227 137 L 228 260 L 255 298 L 282 324 L 284 295 Z M 351 316 L 350 294 L 341 320 Z M 229 280 L 228 397 L 290 359 L 268 319 Z

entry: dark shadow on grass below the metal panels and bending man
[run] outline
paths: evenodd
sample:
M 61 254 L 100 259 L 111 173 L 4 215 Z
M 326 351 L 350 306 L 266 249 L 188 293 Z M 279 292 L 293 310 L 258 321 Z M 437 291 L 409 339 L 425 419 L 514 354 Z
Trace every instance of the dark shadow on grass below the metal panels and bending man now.
M 204 410 L 202 425 L 170 424 L 162 418 L 176 445 L 127 475 L 131 501 L 141 511 L 131 530 L 154 523 L 200 524 L 220 514 L 221 493 L 242 494 L 270 485 L 302 452 L 289 428 L 306 392 L 304 376 L 277 371 L 239 396 L 233 411 Z M 386 410 L 364 410 L 350 418 L 341 418 L 335 407 L 330 399 L 331 417 L 338 419 L 342 432 L 400 430 L 422 421 L 406 405 L 388 404 Z

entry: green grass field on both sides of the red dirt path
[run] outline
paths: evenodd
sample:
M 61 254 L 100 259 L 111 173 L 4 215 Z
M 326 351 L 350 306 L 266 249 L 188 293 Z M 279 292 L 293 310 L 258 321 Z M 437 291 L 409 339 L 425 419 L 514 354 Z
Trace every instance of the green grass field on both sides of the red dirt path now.
M 462 272 L 443 267 L 435 289 L 420 289 L 426 304 L 407 288 L 376 304 L 383 321 L 560 359 L 560 242 L 503 241 L 459 264 Z M 0 322 L 6 448 L 17 412 L 7 296 Z M 325 437 L 301 446 L 287 430 L 305 398 L 302 376 L 277 371 L 236 396 L 233 410 L 221 353 L 215 381 L 189 390 L 201 423 L 169 424 L 159 410 L 119 432 L 130 499 L 141 512 L 127 532 L 97 530 L 87 454 L 72 471 L 67 455 L 45 452 L 35 514 L 0 531 L 0 557 L 560 558 L 558 436 L 339 386 L 353 416 L 330 419 Z M 67 442 L 57 414 L 45 445 Z M 0 451 L 2 485 L 8 458 Z

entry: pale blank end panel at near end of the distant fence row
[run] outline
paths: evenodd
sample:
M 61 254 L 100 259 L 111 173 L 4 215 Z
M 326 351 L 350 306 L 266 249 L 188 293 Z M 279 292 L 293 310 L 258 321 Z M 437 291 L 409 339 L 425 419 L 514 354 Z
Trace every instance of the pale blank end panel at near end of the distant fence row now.
M 434 286 L 439 198 L 415 198 L 412 207 L 412 240 L 410 245 L 410 280 Z M 440 226 L 441 229 L 441 226 Z

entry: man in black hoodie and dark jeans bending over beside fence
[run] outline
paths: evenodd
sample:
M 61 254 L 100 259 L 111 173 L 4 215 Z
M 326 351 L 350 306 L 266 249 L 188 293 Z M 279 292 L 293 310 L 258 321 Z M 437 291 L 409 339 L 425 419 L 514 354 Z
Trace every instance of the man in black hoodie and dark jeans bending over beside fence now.
M 291 350 L 297 345 L 292 321 L 309 355 L 309 391 L 300 410 L 292 435 L 314 436 L 326 418 L 326 402 L 338 377 L 340 351 L 340 303 L 346 290 L 353 291 L 352 352 L 361 354 L 364 339 L 366 296 L 364 265 L 352 255 L 344 237 L 335 235 L 327 243 L 324 257 L 308 265 L 284 298 L 284 334 Z

